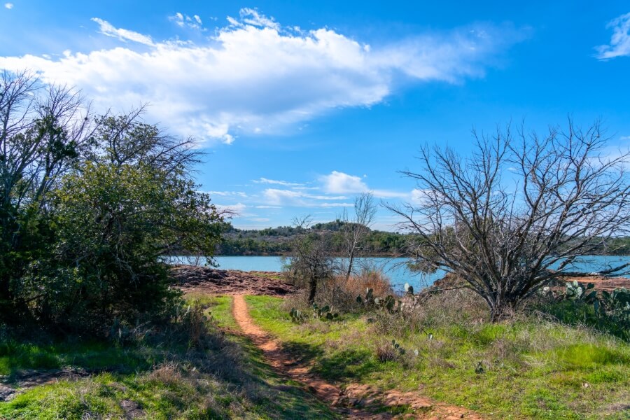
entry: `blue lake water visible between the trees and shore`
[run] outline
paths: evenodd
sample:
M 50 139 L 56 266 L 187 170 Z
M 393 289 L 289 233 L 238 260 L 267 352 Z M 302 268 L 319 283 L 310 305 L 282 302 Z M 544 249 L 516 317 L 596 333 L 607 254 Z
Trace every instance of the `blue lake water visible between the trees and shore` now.
M 235 257 L 215 257 L 220 269 L 239 269 L 241 271 L 272 271 L 279 272 L 283 269 L 283 260 L 281 257 L 262 257 L 262 256 L 235 256 Z M 170 258 L 170 262 L 204 265 L 205 258 Z M 358 258 L 356 267 L 371 267 L 374 269 L 382 269 L 386 276 L 389 277 L 394 290 L 402 291 L 405 283 L 409 283 L 415 290 L 421 290 L 433 284 L 434 281 L 442 279 L 444 272 L 442 270 L 433 274 L 420 274 L 411 272 L 407 269 L 407 258 Z M 598 272 L 605 267 L 630 263 L 629 256 L 589 256 L 584 257 L 582 262 L 576 263 L 571 271 L 579 272 Z

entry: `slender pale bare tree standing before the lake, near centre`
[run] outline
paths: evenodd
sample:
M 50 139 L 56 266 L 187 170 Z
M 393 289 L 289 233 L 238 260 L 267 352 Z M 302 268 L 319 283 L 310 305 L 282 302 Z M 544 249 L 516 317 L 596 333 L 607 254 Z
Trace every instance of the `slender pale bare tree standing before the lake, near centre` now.
M 354 217 L 349 219 L 348 212 L 344 211 L 342 221 L 342 234 L 344 238 L 344 246 L 346 248 L 346 256 L 348 258 L 348 267 L 346 269 L 346 281 L 352 274 L 354 258 L 360 251 L 360 244 L 368 232 L 370 226 L 374 223 L 377 207 L 374 203 L 374 196 L 371 193 L 363 193 L 354 200 Z

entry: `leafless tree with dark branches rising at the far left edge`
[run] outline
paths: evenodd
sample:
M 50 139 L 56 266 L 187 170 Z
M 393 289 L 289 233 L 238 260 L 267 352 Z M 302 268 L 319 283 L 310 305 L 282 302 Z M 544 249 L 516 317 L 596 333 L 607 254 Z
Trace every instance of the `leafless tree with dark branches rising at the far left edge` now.
M 89 104 L 32 73 L 0 73 L 0 208 L 41 198 L 87 148 Z

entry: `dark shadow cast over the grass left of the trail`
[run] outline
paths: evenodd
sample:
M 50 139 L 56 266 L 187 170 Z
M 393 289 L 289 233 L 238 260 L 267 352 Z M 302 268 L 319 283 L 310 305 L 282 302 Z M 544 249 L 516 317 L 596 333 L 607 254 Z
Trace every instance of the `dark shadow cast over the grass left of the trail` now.
M 68 370 L 94 373 L 94 377 L 87 374 L 83 379 L 75 377 L 72 380 L 85 380 L 86 384 L 105 381 L 106 384 L 101 385 L 101 388 L 111 388 L 109 382 L 112 381 L 125 384 L 127 391 L 116 391 L 116 395 L 108 393 L 107 397 L 97 395 L 97 398 L 109 398 L 113 405 L 140 398 L 140 405 L 159 405 L 160 410 L 176 416 L 183 414 L 190 402 L 200 407 L 204 404 L 207 395 L 191 395 L 199 392 L 195 391 L 198 389 L 195 385 L 197 381 L 204 381 L 221 384 L 221 393 L 225 395 L 216 395 L 216 399 L 241 401 L 241 410 L 253 414 L 254 418 L 339 418 L 327 405 L 302 388 L 301 384 L 276 374 L 265 363 L 262 352 L 249 339 L 218 328 L 210 328 L 203 345 L 192 349 L 181 344 L 179 339 L 173 342 L 154 339 L 129 346 L 72 340 L 48 343 L 6 340 L 0 343 L 0 374 L 5 376 L 0 378 L 0 384 L 23 387 L 25 377 L 30 376 L 32 379 L 40 375 L 48 379 L 47 375 L 54 375 L 54 370 L 59 370 L 57 379 L 67 379 Z M 164 376 L 163 372 L 172 373 Z M 59 386 L 64 386 L 63 383 L 59 382 Z M 0 402 L 0 417 L 8 414 L 8 418 L 27 418 L 20 412 L 34 412 L 42 404 L 41 401 L 57 398 L 55 392 L 58 391 L 54 387 L 42 388 L 36 381 L 31 381 L 31 384 L 26 387 L 33 388 L 32 392 L 26 391 L 27 394 L 13 402 Z M 155 397 L 158 400 L 153 401 L 151 395 L 165 392 L 170 395 L 168 401 L 158 397 Z M 218 402 L 216 404 L 216 418 L 227 418 L 234 414 L 229 404 L 226 407 Z M 88 411 L 89 408 L 85 407 Z M 59 413 L 55 411 L 54 414 Z

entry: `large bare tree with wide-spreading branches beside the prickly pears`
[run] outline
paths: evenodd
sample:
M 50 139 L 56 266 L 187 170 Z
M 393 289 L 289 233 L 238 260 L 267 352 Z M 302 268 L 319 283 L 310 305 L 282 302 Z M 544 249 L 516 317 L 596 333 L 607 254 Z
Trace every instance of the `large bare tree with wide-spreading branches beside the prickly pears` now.
M 587 276 L 575 263 L 610 252 L 608 239 L 630 228 L 630 153 L 605 155 L 599 123 L 550 128 L 545 137 L 473 132 L 470 158 L 451 148 L 421 149 L 419 204 L 390 207 L 420 241 L 426 269 L 468 282 L 496 321 L 554 279 Z M 598 275 L 618 275 L 629 265 Z

